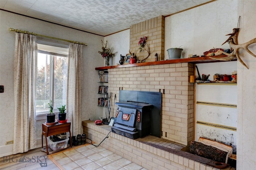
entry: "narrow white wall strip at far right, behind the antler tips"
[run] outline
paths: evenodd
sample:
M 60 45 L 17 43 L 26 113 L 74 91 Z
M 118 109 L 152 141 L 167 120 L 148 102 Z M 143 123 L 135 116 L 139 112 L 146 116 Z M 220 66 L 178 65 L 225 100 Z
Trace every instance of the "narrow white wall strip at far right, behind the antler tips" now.
M 256 37 L 256 1 L 239 1 L 238 15 L 241 15 L 241 30 L 238 43 L 245 43 Z M 256 43 L 249 46 L 256 54 Z M 238 63 L 238 139 L 237 169 L 252 170 L 256 167 L 256 58 L 246 51 L 242 60 L 249 70 Z

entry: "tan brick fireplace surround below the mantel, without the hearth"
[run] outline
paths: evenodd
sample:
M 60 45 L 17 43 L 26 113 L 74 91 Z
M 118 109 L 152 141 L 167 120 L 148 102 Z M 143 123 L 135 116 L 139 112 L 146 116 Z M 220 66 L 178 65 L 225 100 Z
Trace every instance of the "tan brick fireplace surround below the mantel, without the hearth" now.
M 162 93 L 162 138 L 183 145 L 193 139 L 194 64 L 175 63 L 108 69 L 108 92 L 119 90 Z M 116 106 L 112 106 L 116 110 Z

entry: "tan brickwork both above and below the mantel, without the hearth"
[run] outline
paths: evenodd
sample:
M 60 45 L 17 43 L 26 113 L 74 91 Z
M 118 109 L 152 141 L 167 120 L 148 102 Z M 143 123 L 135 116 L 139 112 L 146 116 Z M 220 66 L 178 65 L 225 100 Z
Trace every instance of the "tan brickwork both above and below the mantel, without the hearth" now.
M 164 16 L 130 26 L 132 53 L 144 36 L 148 37 L 146 43 L 150 48 L 146 62 L 154 61 L 155 53 L 159 60 L 164 60 Z M 137 53 L 137 57 L 146 55 Z M 188 81 L 190 75 L 194 75 L 191 63 L 112 68 L 108 69 L 108 92 L 116 96 L 119 90 L 161 92 L 162 138 L 187 145 L 193 139 L 194 126 L 194 84 Z

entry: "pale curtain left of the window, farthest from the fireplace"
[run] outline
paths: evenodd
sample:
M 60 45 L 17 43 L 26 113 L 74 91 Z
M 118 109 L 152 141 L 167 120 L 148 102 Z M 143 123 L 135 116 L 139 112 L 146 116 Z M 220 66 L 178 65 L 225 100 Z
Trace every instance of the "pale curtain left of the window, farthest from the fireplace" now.
M 14 51 L 14 145 L 13 154 L 36 148 L 35 84 L 36 37 L 16 33 Z

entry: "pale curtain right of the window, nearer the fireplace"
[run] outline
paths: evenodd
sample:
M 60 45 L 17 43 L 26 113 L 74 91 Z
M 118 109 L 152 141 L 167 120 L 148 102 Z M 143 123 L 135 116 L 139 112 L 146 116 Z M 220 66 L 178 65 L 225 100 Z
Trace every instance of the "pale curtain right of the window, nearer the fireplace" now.
M 70 43 L 68 55 L 67 119 L 71 122 L 71 133 L 76 136 L 81 127 L 82 94 L 82 47 Z

